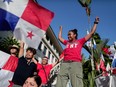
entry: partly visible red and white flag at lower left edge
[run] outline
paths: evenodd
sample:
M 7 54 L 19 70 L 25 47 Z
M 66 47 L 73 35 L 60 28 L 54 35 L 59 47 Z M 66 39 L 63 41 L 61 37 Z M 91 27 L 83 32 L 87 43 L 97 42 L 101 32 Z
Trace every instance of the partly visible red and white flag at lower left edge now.
M 0 87 L 8 87 L 18 64 L 18 58 L 0 51 Z

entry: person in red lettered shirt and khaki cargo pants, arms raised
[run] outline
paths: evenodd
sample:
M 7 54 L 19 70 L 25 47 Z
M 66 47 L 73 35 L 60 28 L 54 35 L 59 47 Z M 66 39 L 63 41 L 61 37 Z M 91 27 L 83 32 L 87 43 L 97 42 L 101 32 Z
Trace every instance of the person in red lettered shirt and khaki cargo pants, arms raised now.
M 77 29 L 69 30 L 68 40 L 63 39 L 62 26 L 60 26 L 58 39 L 66 48 L 63 51 L 64 59 L 60 66 L 56 87 L 66 87 L 69 79 L 72 87 L 83 87 L 81 50 L 86 41 L 89 40 L 96 31 L 98 22 L 99 18 L 96 17 L 91 32 L 81 39 L 77 39 Z

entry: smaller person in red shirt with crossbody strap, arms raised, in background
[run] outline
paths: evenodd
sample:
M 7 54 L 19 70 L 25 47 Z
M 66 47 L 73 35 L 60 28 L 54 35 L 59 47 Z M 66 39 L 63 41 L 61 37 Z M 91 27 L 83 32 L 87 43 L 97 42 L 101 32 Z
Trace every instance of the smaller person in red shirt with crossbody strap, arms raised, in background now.
M 42 79 L 42 87 L 47 86 L 47 82 L 48 82 L 49 76 L 50 76 L 50 71 L 59 62 L 59 60 L 56 61 L 53 64 L 48 64 L 48 58 L 47 57 L 42 58 L 42 63 L 41 64 L 39 62 L 37 62 L 35 60 L 35 58 L 33 58 L 33 61 L 34 61 L 35 64 L 37 64 L 38 75 Z

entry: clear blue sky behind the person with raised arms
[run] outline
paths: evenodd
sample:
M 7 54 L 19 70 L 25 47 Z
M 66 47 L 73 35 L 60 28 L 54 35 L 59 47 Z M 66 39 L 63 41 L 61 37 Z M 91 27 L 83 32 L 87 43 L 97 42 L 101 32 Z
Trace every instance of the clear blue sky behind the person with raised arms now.
M 108 38 L 109 45 L 116 41 L 116 0 L 92 0 L 90 5 L 90 25 L 85 8 L 78 0 L 38 0 L 39 4 L 55 13 L 51 27 L 58 36 L 59 26 L 63 26 L 63 38 L 67 39 L 68 30 L 77 28 L 78 38 L 86 35 L 96 16 L 100 18 L 96 32 L 101 38 Z M 85 50 L 83 53 L 87 52 Z

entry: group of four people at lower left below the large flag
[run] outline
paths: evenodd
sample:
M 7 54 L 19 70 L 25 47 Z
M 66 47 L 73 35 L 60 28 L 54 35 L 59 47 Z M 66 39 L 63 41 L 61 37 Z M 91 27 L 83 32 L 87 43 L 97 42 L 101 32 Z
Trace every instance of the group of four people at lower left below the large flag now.
M 18 65 L 9 87 L 46 87 L 49 80 L 50 70 L 59 62 L 48 64 L 48 57 L 42 58 L 39 63 L 35 58 L 36 49 L 28 47 L 24 55 L 24 42 L 20 47 L 10 47 L 10 55 L 18 57 Z M 34 82 L 33 82 L 34 81 Z

